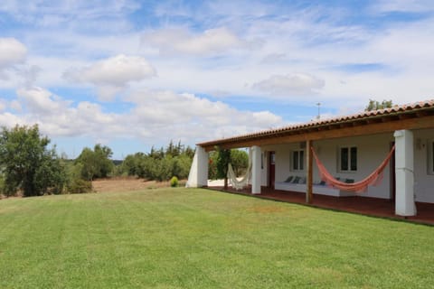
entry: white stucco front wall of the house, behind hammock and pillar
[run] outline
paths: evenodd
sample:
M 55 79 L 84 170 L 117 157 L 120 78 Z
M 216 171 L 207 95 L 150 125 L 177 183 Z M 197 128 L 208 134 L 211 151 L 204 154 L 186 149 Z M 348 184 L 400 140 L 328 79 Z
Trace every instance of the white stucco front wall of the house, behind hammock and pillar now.
M 414 193 L 415 200 L 434 203 L 434 173 L 429 172 L 430 154 L 434 154 L 429 147 L 434 141 L 434 129 L 414 130 Z M 314 142 L 316 154 L 325 167 L 336 177 L 360 181 L 369 175 L 388 154 L 394 141 L 393 134 L 345 137 Z M 340 146 L 357 146 L 357 172 L 338 172 L 337 154 Z M 276 153 L 276 182 L 284 182 L 289 175 L 306 176 L 305 171 L 290 171 L 290 154 L 301 148 L 300 143 L 278 144 L 261 147 L 264 155 L 261 171 L 261 185 L 268 185 L 269 152 Z M 306 157 L 306 155 L 305 155 Z M 319 174 L 314 162 L 314 182 L 319 181 Z M 388 165 L 384 170 L 382 182 L 376 187 L 369 187 L 368 191 L 359 194 L 364 197 L 390 199 L 392 196 L 391 170 Z

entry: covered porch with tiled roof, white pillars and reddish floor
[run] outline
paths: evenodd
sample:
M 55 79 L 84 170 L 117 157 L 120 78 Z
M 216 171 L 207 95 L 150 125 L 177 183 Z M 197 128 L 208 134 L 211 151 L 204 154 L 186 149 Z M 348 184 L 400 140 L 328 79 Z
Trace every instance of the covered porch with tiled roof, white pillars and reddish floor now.
M 426 216 L 434 215 L 433 124 L 434 102 L 427 101 L 201 143 L 196 146 L 187 185 L 207 186 L 208 152 L 215 150 L 216 147 L 222 149 L 249 147 L 250 186 L 237 193 L 379 217 L 427 219 Z M 341 147 L 339 142 L 343 140 L 344 145 Z M 283 146 L 285 150 L 280 150 L 279 157 L 276 157 L 279 147 Z M 363 149 L 357 150 L 358 146 Z M 313 162 L 314 150 L 320 154 L 320 158 L 328 160 L 327 166 L 332 168 L 335 174 L 332 177 L 335 177 L 335 180 L 338 180 L 336 177 L 343 177 L 336 175 L 340 173 L 346 178 L 352 176 L 353 182 L 354 179 L 358 179 L 355 182 L 362 182 L 364 180 L 359 177 L 375 172 L 373 163 L 381 161 L 388 153 L 389 146 L 394 147 L 393 157 L 389 159 L 390 162 L 387 162 L 390 164 L 389 169 L 386 169 L 389 170 L 387 173 L 389 177 L 382 182 L 383 187 L 375 188 L 373 193 L 368 191 L 368 194 L 365 194 L 367 198 L 351 195 L 336 198 L 325 191 L 314 191 L 314 185 L 318 184 L 316 176 L 318 171 Z M 355 154 L 351 151 L 353 148 Z M 343 150 L 346 150 L 345 158 L 339 155 Z M 297 159 L 302 161 L 293 162 L 295 158 L 290 158 L 291 152 L 299 153 Z M 350 163 L 353 161 L 350 153 L 355 155 L 354 169 L 353 163 Z M 283 159 L 284 162 L 275 162 L 275 159 L 277 161 Z M 288 162 L 289 160 L 291 161 Z M 294 163 L 298 164 L 297 168 Z M 342 163 L 346 164 L 345 168 Z M 294 167 L 289 168 L 290 165 Z M 315 174 L 314 170 L 316 170 Z M 303 182 L 297 182 L 303 183 L 303 191 L 296 192 L 291 188 L 279 191 L 284 189 L 275 186 L 278 182 L 287 182 L 285 179 L 288 178 L 289 173 L 291 176 L 297 173 L 297 177 L 303 179 Z M 377 175 L 380 174 L 382 173 L 378 172 Z M 315 176 L 316 180 L 314 180 Z M 345 179 L 346 181 L 350 179 Z M 370 187 L 372 184 L 369 183 Z M 338 188 L 337 191 L 339 190 L 343 189 Z M 425 202 L 429 204 L 426 205 Z M 428 219 L 434 218 L 428 217 Z

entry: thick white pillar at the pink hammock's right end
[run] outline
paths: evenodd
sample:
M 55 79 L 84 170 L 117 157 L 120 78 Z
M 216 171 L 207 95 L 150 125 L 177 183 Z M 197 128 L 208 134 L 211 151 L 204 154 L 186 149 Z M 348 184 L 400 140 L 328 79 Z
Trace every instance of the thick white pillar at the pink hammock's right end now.
M 395 214 L 416 215 L 414 204 L 414 150 L 413 133 L 410 130 L 397 130 L 395 137 L 396 200 Z

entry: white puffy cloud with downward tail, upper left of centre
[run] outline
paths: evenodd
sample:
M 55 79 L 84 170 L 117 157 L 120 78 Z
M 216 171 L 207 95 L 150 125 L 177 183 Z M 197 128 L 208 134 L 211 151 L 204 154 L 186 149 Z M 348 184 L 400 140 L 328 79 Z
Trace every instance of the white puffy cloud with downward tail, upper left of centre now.
M 97 86 L 101 100 L 111 100 L 129 82 L 156 76 L 156 69 L 143 57 L 118 56 L 93 63 L 80 69 L 67 70 L 63 77 L 70 81 Z

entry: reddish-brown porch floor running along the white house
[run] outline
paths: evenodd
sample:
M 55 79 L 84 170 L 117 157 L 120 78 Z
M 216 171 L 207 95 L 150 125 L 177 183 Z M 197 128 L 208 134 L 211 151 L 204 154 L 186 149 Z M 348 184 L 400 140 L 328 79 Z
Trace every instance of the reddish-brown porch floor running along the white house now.
M 212 190 L 224 191 L 222 186 L 210 186 L 208 188 Z M 226 192 L 249 195 L 262 199 L 286 201 L 328 210 L 347 211 L 388 219 L 405 219 L 411 222 L 434 225 L 434 204 L 431 203 L 416 202 L 417 215 L 411 217 L 401 217 L 395 215 L 394 200 L 367 198 L 361 196 L 331 197 L 314 194 L 312 203 L 307 204 L 306 194 L 303 192 L 278 191 L 269 187 L 262 187 L 260 194 L 252 194 L 250 191 L 250 187 L 241 191 L 236 191 L 235 189 L 229 187 Z

